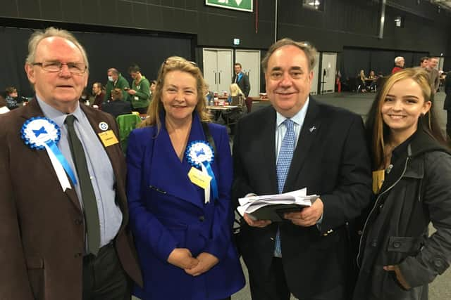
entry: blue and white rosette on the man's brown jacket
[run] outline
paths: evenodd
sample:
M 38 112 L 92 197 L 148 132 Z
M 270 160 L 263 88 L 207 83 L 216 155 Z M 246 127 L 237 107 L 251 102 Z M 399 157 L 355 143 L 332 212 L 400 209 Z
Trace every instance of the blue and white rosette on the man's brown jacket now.
M 73 184 L 77 184 L 77 180 L 72 169 L 70 169 L 68 161 L 58 149 L 57 145 L 61 138 L 61 130 L 55 122 L 46 117 L 32 117 L 25 121 L 22 129 L 20 129 L 20 135 L 28 147 L 37 150 L 45 149 L 47 151 L 63 192 L 67 188 L 70 189 L 70 182 L 66 172 L 70 176 Z

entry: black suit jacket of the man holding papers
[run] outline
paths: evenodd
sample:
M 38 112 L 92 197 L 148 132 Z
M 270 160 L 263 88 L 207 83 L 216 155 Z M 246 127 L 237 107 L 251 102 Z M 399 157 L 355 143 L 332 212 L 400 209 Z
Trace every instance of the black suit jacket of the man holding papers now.
M 278 193 L 275 130 L 272 106 L 238 122 L 233 143 L 233 200 L 248 193 Z M 284 192 L 307 187 L 307 193 L 320 195 L 324 204 L 321 230 L 280 223 L 285 278 L 298 298 L 350 281 L 345 224 L 369 204 L 370 174 L 362 118 L 310 97 Z M 242 222 L 240 249 L 254 280 L 266 282 L 268 278 L 277 228 L 276 223 L 253 228 Z

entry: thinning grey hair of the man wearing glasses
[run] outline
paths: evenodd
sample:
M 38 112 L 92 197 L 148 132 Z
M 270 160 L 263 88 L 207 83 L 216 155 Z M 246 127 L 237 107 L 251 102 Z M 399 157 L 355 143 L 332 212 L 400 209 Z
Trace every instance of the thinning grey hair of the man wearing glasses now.
M 61 39 L 67 39 L 68 41 L 75 44 L 75 46 L 80 50 L 82 53 L 83 60 L 85 61 L 86 68 L 89 70 L 89 62 L 87 60 L 87 54 L 85 51 L 85 48 L 80 44 L 80 42 L 67 30 L 60 30 L 55 27 L 48 27 L 45 31 L 37 30 L 35 31 L 30 39 L 28 40 L 28 56 L 25 60 L 25 63 L 32 64 L 35 63 L 35 57 L 36 57 L 36 48 L 37 45 L 43 40 L 47 39 L 47 37 L 61 37 Z

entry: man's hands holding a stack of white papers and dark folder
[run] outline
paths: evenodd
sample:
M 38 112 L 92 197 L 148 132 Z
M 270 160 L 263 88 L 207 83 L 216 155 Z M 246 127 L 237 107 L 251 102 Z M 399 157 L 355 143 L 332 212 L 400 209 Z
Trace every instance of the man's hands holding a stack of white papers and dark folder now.
M 315 200 L 319 200 L 319 203 L 312 205 Z M 264 227 L 271 221 L 285 220 L 300 226 L 311 226 L 321 218 L 323 211 L 323 203 L 318 195 L 307 195 L 307 188 L 278 195 L 244 197 L 239 202 L 238 212 L 249 226 L 254 227 Z M 311 224 L 318 214 L 318 219 Z

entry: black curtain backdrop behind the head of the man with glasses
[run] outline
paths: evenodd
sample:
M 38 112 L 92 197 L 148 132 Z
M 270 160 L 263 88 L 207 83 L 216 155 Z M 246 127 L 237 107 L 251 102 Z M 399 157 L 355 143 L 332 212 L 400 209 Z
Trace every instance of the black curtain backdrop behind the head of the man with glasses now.
M 33 96 L 24 70 L 27 56 L 27 42 L 32 29 L 0 27 L 0 91 L 6 86 L 15 86 L 20 96 Z M 156 79 L 161 63 L 168 56 L 182 56 L 194 60 L 192 37 L 157 37 L 156 34 L 114 34 L 97 32 L 73 32 L 85 47 L 89 60 L 89 81 L 91 91 L 96 81 L 106 84 L 106 71 L 116 67 L 131 81 L 128 67 L 136 63 L 141 73 L 149 79 Z

